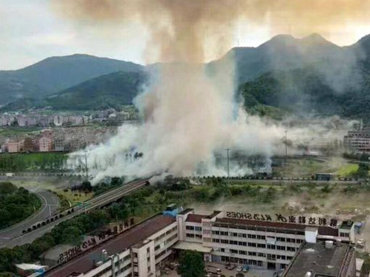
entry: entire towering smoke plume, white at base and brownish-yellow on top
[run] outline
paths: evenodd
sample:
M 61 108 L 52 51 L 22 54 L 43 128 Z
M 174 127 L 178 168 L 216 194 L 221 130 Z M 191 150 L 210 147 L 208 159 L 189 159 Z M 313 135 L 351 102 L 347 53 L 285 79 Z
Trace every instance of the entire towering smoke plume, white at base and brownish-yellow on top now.
M 145 53 L 165 64 L 152 67 L 151 83 L 135 99 L 145 121 L 122 126 L 118 135 L 89 151 L 89 165 L 100 164 L 104 175 L 225 174 L 215 163 L 225 148 L 251 155 L 272 155 L 282 149 L 284 128 L 248 116 L 234 102 L 234 61 L 209 77 L 205 52 L 229 49 L 233 24 L 246 18 L 268 21 L 272 28 L 289 25 L 297 33 L 330 31 L 346 19 L 367 20 L 364 1 L 327 0 L 55 0 L 55 9 L 80 21 L 112 24 L 137 20 L 151 33 Z M 361 7 L 362 6 L 362 7 Z M 361 8 L 360 8 L 361 7 Z M 221 72 L 221 71 L 217 71 Z M 299 134 L 299 131 L 295 133 Z M 133 160 L 128 153 L 142 152 Z M 238 167 L 233 168 L 242 174 Z M 231 172 L 233 174 L 233 172 Z

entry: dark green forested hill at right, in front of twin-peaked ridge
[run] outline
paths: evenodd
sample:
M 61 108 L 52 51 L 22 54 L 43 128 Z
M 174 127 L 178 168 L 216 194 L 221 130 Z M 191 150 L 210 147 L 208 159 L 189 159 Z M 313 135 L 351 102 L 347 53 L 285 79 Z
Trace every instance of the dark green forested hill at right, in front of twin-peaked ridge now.
M 357 86 L 338 92 L 313 67 L 271 71 L 239 87 L 247 110 L 275 107 L 294 114 L 340 115 L 370 123 L 370 73 L 362 71 Z

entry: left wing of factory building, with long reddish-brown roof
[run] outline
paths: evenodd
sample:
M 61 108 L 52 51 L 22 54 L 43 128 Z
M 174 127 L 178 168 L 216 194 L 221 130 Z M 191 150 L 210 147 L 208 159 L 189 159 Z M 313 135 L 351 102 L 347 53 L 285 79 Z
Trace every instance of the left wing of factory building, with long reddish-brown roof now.
M 161 261 L 172 253 L 177 241 L 176 218 L 157 214 L 45 276 L 158 276 Z

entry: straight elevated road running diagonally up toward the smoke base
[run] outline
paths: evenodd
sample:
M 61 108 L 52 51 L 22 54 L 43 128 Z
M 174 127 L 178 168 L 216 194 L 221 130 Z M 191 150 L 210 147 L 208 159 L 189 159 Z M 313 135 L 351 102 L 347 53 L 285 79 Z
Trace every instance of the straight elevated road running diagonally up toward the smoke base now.
M 144 180 L 138 180 L 138 181 L 132 181 L 125 185 L 122 185 L 119 188 L 112 189 L 110 191 L 107 191 L 105 194 L 99 195 L 97 197 L 94 197 L 90 199 L 89 201 L 86 201 L 86 205 L 84 207 L 74 207 L 74 212 L 67 214 L 64 212 L 64 216 L 62 218 L 58 218 L 54 220 L 51 223 L 48 223 L 44 226 L 41 226 L 40 228 L 37 228 L 36 230 L 33 230 L 29 233 L 25 233 L 16 237 L 13 237 L 10 240 L 7 240 L 5 243 L 0 244 L 0 248 L 8 247 L 12 248 L 17 245 L 22 245 L 25 243 L 31 243 L 38 237 L 41 237 L 47 232 L 50 232 L 51 229 L 54 228 L 54 226 L 58 225 L 59 223 L 74 218 L 75 216 L 88 212 L 92 209 L 99 208 L 101 206 L 105 206 L 107 204 L 110 204 L 114 201 L 117 201 L 122 196 L 129 194 L 132 191 L 135 191 L 141 187 L 144 187 L 147 183 L 147 179 Z M 1 243 L 1 242 L 0 242 Z

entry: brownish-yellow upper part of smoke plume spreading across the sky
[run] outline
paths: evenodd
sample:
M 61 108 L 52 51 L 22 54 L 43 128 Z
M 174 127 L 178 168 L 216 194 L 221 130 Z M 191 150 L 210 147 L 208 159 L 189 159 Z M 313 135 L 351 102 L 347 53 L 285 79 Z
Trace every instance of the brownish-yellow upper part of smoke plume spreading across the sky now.
M 268 25 L 271 33 L 297 36 L 344 33 L 348 24 L 369 26 L 370 0 L 53 0 L 77 21 L 140 21 L 150 33 L 148 50 L 161 62 L 203 62 L 206 50 L 222 53 L 233 41 L 235 23 Z M 147 54 L 149 55 L 149 54 Z M 147 57 L 149 59 L 149 57 Z M 150 60 L 150 59 L 149 59 Z

